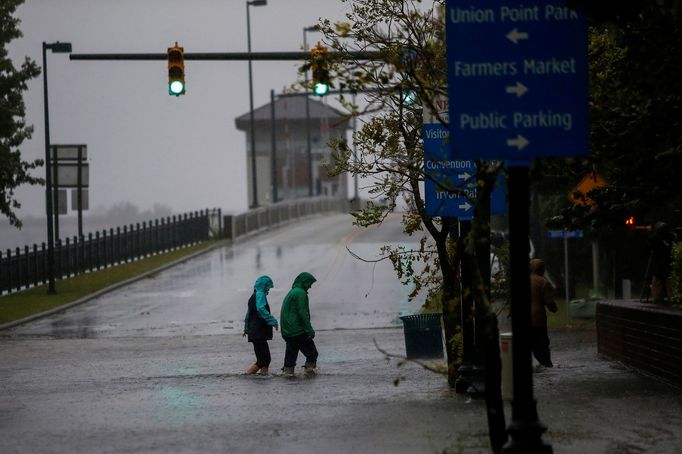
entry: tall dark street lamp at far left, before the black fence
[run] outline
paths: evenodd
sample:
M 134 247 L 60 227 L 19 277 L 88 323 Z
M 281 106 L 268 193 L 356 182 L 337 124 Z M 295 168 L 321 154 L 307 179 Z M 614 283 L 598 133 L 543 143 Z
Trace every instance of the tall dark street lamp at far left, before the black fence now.
M 43 41 L 43 103 L 45 107 L 45 210 L 47 212 L 47 293 L 55 294 L 54 285 L 54 230 L 52 225 L 52 163 L 50 162 L 50 116 L 47 101 L 47 50 L 55 54 L 71 52 L 71 43 L 47 44 Z M 56 202 L 56 200 L 55 200 Z M 56 203 L 55 203 L 56 204 Z

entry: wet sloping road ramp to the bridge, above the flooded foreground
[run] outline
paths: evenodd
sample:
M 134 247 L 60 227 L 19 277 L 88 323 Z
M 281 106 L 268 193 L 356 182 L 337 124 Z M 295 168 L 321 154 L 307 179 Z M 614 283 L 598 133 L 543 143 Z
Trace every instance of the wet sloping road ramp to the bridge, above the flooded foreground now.
M 124 288 L 16 328 L 18 336 L 94 338 L 240 333 L 255 279 L 272 277 L 268 300 L 279 316 L 282 299 L 301 271 L 317 282 L 309 292 L 316 330 L 399 326 L 399 315 L 413 313 L 410 286 L 395 276 L 390 261 L 360 261 L 380 256 L 385 244 L 410 247 L 400 218 L 377 228 L 352 226 L 349 215 L 315 217 L 252 239 L 225 246 Z

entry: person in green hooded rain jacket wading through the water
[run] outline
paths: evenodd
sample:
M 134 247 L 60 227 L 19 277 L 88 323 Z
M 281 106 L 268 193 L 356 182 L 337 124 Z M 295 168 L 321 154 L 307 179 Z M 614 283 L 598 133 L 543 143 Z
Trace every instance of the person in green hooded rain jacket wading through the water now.
M 286 342 L 284 353 L 284 376 L 293 377 L 296 359 L 300 351 L 305 356 L 303 366 L 306 374 L 314 374 L 317 367 L 317 348 L 313 338 L 315 331 L 310 324 L 308 290 L 316 279 L 312 274 L 303 272 L 296 276 L 291 290 L 282 303 L 280 322 L 282 337 Z

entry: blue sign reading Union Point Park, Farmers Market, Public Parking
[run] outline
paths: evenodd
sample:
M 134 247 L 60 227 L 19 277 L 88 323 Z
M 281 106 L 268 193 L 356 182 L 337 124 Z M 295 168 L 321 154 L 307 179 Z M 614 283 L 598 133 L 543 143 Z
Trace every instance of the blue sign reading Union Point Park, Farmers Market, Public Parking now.
M 589 152 L 587 24 L 566 0 L 447 0 L 451 159 Z

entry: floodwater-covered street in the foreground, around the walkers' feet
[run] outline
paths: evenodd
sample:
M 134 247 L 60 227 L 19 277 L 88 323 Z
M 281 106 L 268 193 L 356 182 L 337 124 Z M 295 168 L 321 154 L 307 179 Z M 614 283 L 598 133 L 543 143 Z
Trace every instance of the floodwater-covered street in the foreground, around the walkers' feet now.
M 550 338 L 558 367 L 534 380 L 555 453 L 682 452 L 679 390 L 598 359 L 592 331 Z M 269 377 L 242 375 L 236 333 L 0 338 L 0 452 L 488 452 L 483 401 L 376 349 L 404 353 L 401 328 L 315 341 L 319 375 L 288 380 L 277 334 Z

